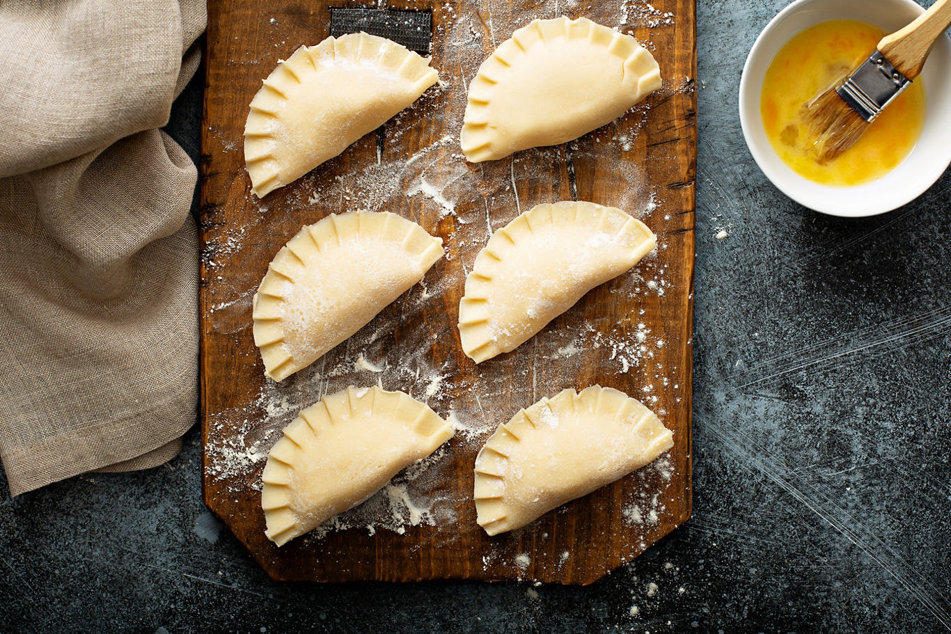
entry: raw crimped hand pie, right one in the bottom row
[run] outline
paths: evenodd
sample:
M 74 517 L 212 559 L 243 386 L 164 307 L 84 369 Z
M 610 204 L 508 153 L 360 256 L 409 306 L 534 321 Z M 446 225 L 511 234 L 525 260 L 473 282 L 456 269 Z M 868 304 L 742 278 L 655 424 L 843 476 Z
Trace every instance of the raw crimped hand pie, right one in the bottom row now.
M 673 447 L 660 419 L 623 392 L 593 386 L 543 398 L 476 456 L 476 521 L 490 535 L 521 528 Z

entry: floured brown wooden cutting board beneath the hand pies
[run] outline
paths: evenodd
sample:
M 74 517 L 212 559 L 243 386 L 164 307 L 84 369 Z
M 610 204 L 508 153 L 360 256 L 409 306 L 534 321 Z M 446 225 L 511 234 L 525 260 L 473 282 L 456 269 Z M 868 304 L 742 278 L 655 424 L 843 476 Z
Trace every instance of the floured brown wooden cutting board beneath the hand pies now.
M 360 6 L 209 2 L 201 164 L 204 502 L 275 579 L 590 584 L 690 514 L 693 0 L 391 2 L 391 9 L 432 11 L 441 86 L 376 134 L 259 200 L 243 167 L 248 104 L 279 59 L 328 35 L 331 4 Z M 665 86 L 571 144 L 466 163 L 458 133 L 477 67 L 514 29 L 558 15 L 585 15 L 632 33 L 653 51 Z M 594 289 L 513 353 L 476 367 L 456 331 L 476 254 L 519 211 L 572 199 L 618 206 L 646 221 L 658 235 L 656 255 Z M 419 222 L 444 240 L 446 259 L 311 368 L 281 384 L 265 379 L 251 297 L 267 263 L 301 225 L 356 209 Z M 526 528 L 487 537 L 472 503 L 482 442 L 542 396 L 598 383 L 659 413 L 674 432 L 674 448 Z M 261 509 L 266 452 L 299 409 L 351 384 L 412 394 L 451 416 L 458 432 L 334 526 L 276 548 L 264 537 Z

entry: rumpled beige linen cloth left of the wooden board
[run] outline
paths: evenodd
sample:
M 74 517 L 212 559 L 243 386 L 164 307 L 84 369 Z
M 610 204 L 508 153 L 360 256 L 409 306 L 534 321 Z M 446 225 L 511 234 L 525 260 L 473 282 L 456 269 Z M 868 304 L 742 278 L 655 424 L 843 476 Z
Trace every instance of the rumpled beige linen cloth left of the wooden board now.
M 195 422 L 196 170 L 158 128 L 204 0 L 0 2 L 0 459 L 17 495 Z

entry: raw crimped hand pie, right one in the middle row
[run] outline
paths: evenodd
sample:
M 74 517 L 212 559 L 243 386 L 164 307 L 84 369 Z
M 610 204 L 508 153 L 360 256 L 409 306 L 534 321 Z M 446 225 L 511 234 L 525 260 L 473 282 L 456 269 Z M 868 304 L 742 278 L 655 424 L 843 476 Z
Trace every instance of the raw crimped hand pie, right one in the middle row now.
M 481 363 L 514 350 L 656 244 L 647 225 L 615 207 L 533 207 L 492 235 L 466 278 L 459 302 L 462 351 Z

